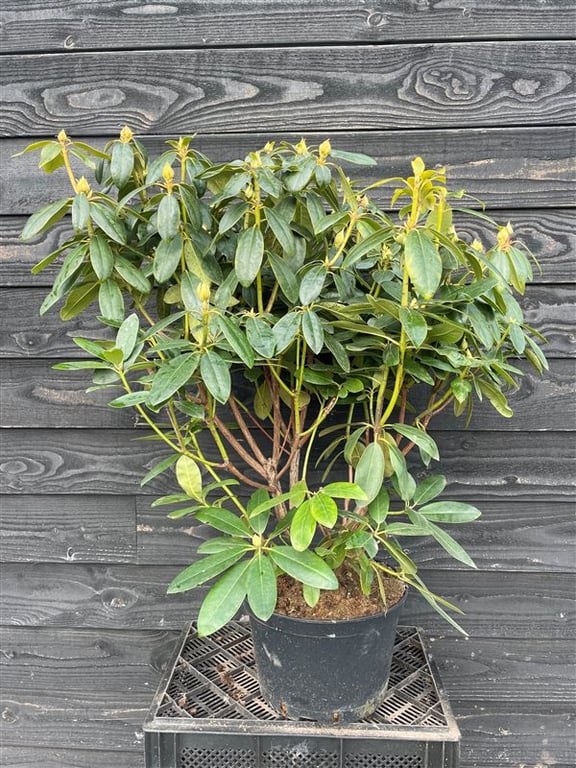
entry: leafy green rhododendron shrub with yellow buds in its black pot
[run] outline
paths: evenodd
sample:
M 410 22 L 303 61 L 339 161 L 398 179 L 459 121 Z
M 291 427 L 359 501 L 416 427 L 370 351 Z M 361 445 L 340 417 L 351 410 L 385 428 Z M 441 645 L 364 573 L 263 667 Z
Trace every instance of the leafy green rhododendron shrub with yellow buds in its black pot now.
M 374 161 L 328 140 L 269 142 L 219 164 L 191 137 L 151 159 L 129 128 L 103 150 L 65 132 L 32 150 L 71 185 L 22 233 L 71 216 L 71 236 L 33 270 L 62 260 L 41 312 L 60 303 L 67 321 L 97 306 L 102 325 L 100 339 L 75 339 L 89 359 L 58 367 L 116 388 L 110 405 L 135 409 L 166 445 L 142 483 L 175 471 L 181 492 L 155 504 L 214 529 L 168 591 L 212 582 L 201 634 L 246 603 L 264 692 L 288 716 L 368 714 L 407 588 L 460 629 L 401 542 L 432 537 L 474 567 L 444 526 L 480 511 L 439 499 L 428 429 L 448 407 L 469 418 L 475 399 L 511 416 L 514 359 L 546 367 L 514 296 L 532 275 L 525 249 L 510 225 L 494 224 L 487 248 L 461 236 L 462 193 L 420 158 L 405 179 L 363 186 L 340 163 Z M 371 197 L 384 185 L 394 213 Z M 282 656 L 302 643 L 304 695 L 287 690 L 297 662 Z M 331 697 L 323 670 L 341 683 Z

